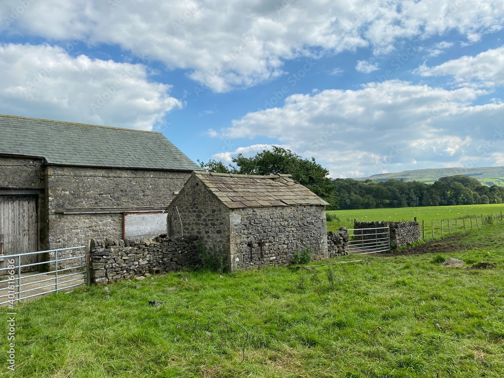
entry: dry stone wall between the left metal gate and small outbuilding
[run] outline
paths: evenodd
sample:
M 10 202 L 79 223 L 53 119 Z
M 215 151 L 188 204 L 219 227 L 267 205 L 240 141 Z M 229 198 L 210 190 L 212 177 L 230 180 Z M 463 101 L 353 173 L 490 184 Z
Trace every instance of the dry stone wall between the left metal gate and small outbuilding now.
M 108 283 L 201 264 L 197 238 L 91 239 L 91 282 Z

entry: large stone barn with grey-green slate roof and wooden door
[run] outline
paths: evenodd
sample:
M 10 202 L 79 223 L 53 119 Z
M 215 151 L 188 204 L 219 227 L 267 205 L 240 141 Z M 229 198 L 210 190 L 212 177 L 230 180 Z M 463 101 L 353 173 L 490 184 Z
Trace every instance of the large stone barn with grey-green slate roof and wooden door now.
M 166 232 L 164 210 L 201 169 L 161 133 L 0 115 L 6 255 Z

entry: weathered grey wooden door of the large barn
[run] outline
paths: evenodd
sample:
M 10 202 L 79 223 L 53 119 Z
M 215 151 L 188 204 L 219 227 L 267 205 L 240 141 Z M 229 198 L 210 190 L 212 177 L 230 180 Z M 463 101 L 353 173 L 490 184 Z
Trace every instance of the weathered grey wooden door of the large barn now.
M 38 250 L 36 196 L 0 196 L 0 268 L 7 266 L 7 256 Z M 37 262 L 37 255 L 26 256 L 21 264 Z M 16 261 L 16 264 L 18 262 Z M 37 270 L 35 267 L 21 271 Z M 0 271 L 0 274 L 7 271 Z

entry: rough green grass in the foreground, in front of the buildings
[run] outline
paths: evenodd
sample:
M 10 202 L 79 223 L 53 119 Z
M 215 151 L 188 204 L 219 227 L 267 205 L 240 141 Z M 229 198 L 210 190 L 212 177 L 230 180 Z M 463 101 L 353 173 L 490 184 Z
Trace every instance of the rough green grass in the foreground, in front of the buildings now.
M 15 372 L 2 308 L 0 376 L 502 377 L 504 224 L 455 242 L 473 249 L 52 294 L 14 309 Z M 448 257 L 496 265 L 440 267 Z

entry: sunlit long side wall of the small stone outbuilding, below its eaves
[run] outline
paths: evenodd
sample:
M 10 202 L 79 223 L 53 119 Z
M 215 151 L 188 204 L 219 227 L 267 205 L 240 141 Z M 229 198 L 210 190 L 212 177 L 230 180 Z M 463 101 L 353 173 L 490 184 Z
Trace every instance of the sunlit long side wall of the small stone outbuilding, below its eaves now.
M 328 258 L 324 206 L 233 209 L 231 269 L 288 265 L 308 246 L 314 260 Z

